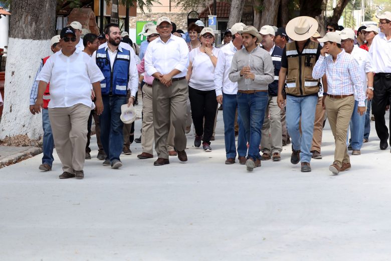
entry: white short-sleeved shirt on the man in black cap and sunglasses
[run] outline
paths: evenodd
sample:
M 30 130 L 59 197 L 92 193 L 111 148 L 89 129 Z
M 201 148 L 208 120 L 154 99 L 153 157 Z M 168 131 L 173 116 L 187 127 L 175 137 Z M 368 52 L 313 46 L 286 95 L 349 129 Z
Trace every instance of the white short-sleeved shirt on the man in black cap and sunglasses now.
M 78 103 L 94 108 L 91 84 L 103 79 L 95 60 L 76 48 L 69 57 L 62 50 L 52 54 L 36 81 L 50 82 L 49 108 L 71 107 Z

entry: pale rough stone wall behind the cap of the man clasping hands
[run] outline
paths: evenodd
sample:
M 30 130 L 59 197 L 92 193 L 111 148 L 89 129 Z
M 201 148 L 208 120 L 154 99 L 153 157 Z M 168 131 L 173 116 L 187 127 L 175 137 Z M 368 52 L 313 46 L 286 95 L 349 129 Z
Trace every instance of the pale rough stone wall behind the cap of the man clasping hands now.
M 171 22 L 174 22 L 176 29 L 187 31 L 187 13 L 137 13 L 137 17 L 129 18 L 129 27 L 136 28 L 137 21 L 156 21 L 162 16 L 166 16 Z

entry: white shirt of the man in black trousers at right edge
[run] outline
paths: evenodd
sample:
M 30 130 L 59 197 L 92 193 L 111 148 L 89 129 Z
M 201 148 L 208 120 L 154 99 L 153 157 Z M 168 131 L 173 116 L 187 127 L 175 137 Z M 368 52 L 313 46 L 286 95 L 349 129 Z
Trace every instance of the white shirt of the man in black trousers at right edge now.
M 376 35 L 369 48 L 371 72 L 391 73 L 391 39 L 387 40 L 383 33 Z

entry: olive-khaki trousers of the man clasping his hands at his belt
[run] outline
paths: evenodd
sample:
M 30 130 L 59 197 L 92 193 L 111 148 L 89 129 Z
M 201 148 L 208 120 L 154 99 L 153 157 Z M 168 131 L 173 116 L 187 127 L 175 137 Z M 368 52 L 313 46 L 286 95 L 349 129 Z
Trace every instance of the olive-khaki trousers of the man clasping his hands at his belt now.
M 158 158 L 168 159 L 167 137 L 171 122 L 175 131 L 175 149 L 183 151 L 186 148 L 187 82 L 185 79 L 173 81 L 167 87 L 155 79 L 152 86 L 155 151 Z

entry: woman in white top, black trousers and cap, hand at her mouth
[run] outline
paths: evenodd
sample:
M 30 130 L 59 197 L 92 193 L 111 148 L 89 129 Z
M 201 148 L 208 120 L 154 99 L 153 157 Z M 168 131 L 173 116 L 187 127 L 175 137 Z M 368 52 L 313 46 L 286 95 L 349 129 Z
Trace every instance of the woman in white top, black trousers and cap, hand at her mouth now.
M 195 128 L 194 146 L 201 146 L 205 152 L 211 152 L 211 137 L 215 123 L 217 100 L 214 84 L 215 67 L 220 50 L 213 47 L 215 35 L 213 29 L 205 27 L 201 31 L 201 46 L 191 50 L 186 79 L 190 98 L 191 117 Z M 204 123 L 205 118 L 205 123 Z

